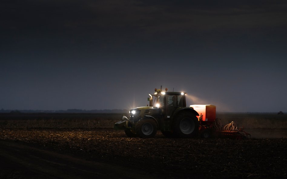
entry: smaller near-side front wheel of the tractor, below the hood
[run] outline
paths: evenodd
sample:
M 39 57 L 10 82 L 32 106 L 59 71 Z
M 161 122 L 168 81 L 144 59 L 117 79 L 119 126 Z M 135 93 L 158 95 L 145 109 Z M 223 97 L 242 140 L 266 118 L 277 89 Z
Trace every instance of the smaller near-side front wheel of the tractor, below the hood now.
M 137 122 L 136 132 L 140 138 L 151 138 L 157 133 L 157 123 L 153 119 L 142 119 Z

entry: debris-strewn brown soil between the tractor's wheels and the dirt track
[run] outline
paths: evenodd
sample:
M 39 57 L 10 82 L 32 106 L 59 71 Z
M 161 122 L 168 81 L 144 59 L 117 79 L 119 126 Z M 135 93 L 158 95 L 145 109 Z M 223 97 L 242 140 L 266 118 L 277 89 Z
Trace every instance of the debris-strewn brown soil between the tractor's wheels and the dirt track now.
M 87 160 L 138 166 L 154 175 L 171 178 L 286 176 L 282 168 L 287 164 L 286 139 L 169 139 L 160 134 L 153 139 L 140 139 L 128 138 L 123 131 L 112 128 L 4 129 L 1 139 Z

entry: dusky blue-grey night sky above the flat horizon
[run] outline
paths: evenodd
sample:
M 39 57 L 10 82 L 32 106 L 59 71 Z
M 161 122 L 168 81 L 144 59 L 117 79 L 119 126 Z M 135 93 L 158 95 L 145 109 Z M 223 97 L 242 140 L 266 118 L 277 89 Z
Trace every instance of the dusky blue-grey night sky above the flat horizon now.
M 0 109 L 129 109 L 162 85 L 287 111 L 283 0 L 2 0 L 0 18 Z

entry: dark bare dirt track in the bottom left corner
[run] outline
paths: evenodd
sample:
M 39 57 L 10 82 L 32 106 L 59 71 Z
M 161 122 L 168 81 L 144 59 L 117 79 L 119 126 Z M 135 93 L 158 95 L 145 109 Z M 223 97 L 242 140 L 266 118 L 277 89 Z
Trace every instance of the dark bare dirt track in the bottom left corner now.
M 88 161 L 19 142 L 0 141 L 0 145 L 1 178 L 147 178 L 123 166 Z

